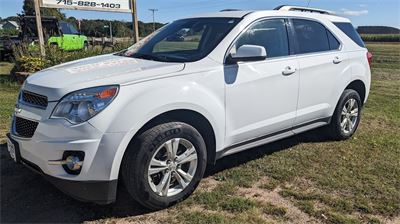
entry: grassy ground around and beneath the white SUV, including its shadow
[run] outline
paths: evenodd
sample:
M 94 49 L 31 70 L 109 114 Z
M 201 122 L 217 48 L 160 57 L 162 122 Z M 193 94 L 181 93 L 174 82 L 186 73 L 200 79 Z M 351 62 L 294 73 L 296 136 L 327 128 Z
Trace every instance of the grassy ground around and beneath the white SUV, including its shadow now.
M 156 212 L 123 186 L 113 205 L 75 201 L 14 164 L 4 135 L 19 86 L 0 63 L 0 222 L 400 223 L 400 44 L 367 47 L 372 87 L 351 139 L 315 130 L 223 158 L 192 196 Z

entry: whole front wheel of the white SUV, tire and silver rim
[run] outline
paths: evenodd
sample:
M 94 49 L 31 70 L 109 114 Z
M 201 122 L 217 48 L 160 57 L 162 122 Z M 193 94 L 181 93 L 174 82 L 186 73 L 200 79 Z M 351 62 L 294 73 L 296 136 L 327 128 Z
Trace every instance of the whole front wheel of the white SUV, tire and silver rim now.
M 206 164 L 200 133 L 185 123 L 165 123 L 134 139 L 123 159 L 122 178 L 136 201 L 150 209 L 162 209 L 196 189 Z

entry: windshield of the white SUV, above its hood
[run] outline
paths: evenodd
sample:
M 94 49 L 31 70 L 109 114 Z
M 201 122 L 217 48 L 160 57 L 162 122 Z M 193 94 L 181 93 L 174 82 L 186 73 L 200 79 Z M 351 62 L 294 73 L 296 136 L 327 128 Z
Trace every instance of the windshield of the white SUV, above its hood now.
M 175 21 L 122 52 L 122 56 L 164 62 L 191 62 L 207 56 L 240 21 L 193 18 Z

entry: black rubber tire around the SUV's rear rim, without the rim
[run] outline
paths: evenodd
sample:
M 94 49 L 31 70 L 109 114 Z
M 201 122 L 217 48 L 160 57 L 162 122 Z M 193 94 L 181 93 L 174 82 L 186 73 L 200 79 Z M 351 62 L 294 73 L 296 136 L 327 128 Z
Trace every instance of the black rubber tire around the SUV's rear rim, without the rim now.
M 358 117 L 355 121 L 354 127 L 345 132 L 342 129 L 341 121 L 342 121 L 342 110 L 345 104 L 350 100 L 354 99 L 358 106 Z M 326 127 L 326 134 L 329 138 L 334 140 L 346 140 L 350 138 L 354 132 L 357 130 L 358 125 L 361 120 L 361 112 L 362 112 L 362 101 L 360 95 L 353 89 L 346 89 L 343 91 L 342 96 L 339 99 L 338 104 L 336 105 L 335 112 L 333 113 L 330 124 Z

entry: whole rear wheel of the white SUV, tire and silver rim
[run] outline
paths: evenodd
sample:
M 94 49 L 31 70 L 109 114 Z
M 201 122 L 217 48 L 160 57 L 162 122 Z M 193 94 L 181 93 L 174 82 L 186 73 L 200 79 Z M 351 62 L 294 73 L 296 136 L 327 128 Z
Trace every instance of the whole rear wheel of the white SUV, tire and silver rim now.
M 361 118 L 362 102 L 360 95 L 346 89 L 340 97 L 327 132 L 331 138 L 345 140 L 357 130 Z

